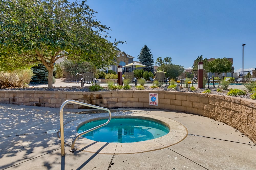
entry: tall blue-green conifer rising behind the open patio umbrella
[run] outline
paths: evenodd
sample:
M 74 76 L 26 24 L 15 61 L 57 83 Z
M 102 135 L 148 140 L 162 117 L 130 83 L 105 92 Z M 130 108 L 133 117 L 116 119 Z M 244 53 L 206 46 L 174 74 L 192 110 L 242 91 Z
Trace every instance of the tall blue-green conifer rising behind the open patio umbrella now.
M 148 66 L 143 68 L 144 71 L 154 72 L 153 55 L 146 45 L 144 45 L 144 47 L 141 49 L 140 55 L 138 55 L 138 59 L 142 64 Z

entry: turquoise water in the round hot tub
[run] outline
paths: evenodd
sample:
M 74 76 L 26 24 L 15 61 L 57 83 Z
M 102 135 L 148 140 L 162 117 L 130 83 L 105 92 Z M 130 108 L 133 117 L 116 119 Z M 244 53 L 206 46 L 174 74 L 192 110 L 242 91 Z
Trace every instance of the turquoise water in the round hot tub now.
M 92 121 L 80 126 L 78 133 L 105 123 L 107 119 Z M 113 118 L 98 129 L 89 132 L 83 137 L 112 143 L 130 143 L 159 138 L 169 133 L 169 128 L 157 122 L 139 118 Z

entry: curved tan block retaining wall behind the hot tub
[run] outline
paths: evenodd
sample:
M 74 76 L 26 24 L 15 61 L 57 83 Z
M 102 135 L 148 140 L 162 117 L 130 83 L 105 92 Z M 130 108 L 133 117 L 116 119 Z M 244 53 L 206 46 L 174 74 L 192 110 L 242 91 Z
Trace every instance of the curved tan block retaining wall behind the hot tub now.
M 149 105 L 149 93 L 158 94 L 158 106 Z M 194 113 L 235 127 L 256 143 L 256 101 L 251 99 L 202 93 L 145 90 L 0 91 L 0 103 L 7 104 L 59 108 L 68 99 L 105 108 L 142 107 Z M 66 108 L 84 108 L 84 106 L 67 104 Z

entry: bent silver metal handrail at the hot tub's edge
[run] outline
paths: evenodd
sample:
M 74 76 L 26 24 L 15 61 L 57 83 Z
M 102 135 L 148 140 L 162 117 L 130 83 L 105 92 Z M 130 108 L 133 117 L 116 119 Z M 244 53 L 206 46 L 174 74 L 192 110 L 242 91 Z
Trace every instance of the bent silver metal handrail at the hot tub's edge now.
M 106 123 L 103 123 L 99 126 L 96 126 L 94 128 L 91 128 L 89 130 L 86 130 L 84 132 L 81 132 L 79 134 L 77 134 L 73 140 L 72 140 L 72 144 L 71 144 L 71 148 L 69 149 L 70 152 L 73 152 L 73 151 L 76 151 L 77 149 L 75 148 L 75 142 L 77 140 L 77 138 L 83 134 L 86 134 L 88 132 L 91 132 L 92 130 L 94 129 L 97 129 L 101 126 L 105 126 L 106 124 L 108 124 L 111 120 L 111 112 L 109 109 L 107 108 L 103 108 L 103 107 L 100 107 L 100 106 L 94 106 L 92 104 L 87 104 L 87 103 L 83 103 L 83 102 L 80 102 L 80 101 L 75 101 L 75 100 L 66 100 L 64 101 L 61 106 L 60 106 L 60 141 L 61 141 L 61 156 L 64 156 L 65 155 L 65 148 L 64 148 L 64 125 L 63 125 L 63 108 L 66 104 L 68 103 L 74 103 L 74 104 L 80 104 L 80 105 L 83 105 L 83 106 L 88 106 L 88 107 L 92 107 L 92 108 L 95 108 L 95 109 L 100 109 L 100 110 L 105 110 L 105 111 L 108 111 L 109 112 L 109 120 L 106 122 Z

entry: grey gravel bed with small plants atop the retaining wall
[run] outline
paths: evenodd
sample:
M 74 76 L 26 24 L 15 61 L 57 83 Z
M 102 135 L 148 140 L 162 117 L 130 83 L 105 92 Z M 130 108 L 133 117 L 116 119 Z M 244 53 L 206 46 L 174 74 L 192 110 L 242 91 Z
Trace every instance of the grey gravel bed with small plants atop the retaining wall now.
M 205 89 L 197 88 L 196 90 L 190 91 L 190 93 L 202 93 L 206 89 L 210 89 L 211 93 L 208 94 L 216 94 L 216 95 L 222 95 L 222 96 L 227 96 L 228 90 L 223 90 L 222 92 L 218 92 L 217 88 L 214 87 L 209 87 Z M 53 87 L 52 89 L 47 89 L 47 87 L 24 87 L 24 88 L 5 88 L 5 89 L 0 89 L 0 90 L 49 90 L 49 91 L 90 91 L 87 87 L 81 88 L 80 86 L 72 86 L 72 87 Z M 121 89 L 122 90 L 122 89 Z M 132 86 L 130 90 L 138 90 L 135 86 Z M 164 87 L 159 87 L 159 88 L 150 88 L 145 86 L 145 89 L 143 90 L 149 90 L 149 91 L 162 91 L 164 90 Z M 103 90 L 101 91 L 111 91 L 108 88 L 104 87 Z M 167 89 L 167 91 L 176 91 L 175 89 Z M 189 92 L 187 88 L 180 88 L 181 92 Z M 234 97 L 241 97 L 241 98 L 246 98 L 246 99 L 251 99 L 251 94 L 248 93 L 246 95 L 239 95 L 239 96 L 234 96 Z

